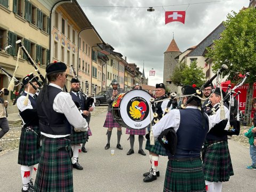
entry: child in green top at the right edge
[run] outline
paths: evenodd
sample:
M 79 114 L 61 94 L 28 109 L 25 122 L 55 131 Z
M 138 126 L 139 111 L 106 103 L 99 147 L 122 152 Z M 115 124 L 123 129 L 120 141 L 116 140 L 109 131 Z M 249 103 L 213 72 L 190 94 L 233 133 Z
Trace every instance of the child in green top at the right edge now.
M 254 126 L 252 126 L 248 131 L 244 130 L 244 136 L 249 138 L 250 143 L 250 156 L 252 158 L 252 165 L 246 166 L 247 169 L 256 170 L 256 146 L 254 146 L 253 141 L 253 129 Z

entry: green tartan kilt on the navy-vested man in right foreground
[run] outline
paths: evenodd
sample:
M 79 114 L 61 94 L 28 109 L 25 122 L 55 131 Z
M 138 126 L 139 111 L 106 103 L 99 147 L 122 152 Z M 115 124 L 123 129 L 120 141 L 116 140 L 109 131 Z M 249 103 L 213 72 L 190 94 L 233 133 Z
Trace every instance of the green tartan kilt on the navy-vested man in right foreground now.
M 186 162 L 169 160 L 165 173 L 163 191 L 205 192 L 201 159 Z

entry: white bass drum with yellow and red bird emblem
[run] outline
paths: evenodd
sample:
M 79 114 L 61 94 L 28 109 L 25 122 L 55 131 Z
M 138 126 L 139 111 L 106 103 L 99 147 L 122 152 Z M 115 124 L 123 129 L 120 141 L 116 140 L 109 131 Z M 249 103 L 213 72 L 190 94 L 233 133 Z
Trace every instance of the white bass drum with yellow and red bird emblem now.
M 153 119 L 153 111 L 149 105 L 150 98 L 147 91 L 138 89 L 118 94 L 112 104 L 113 118 L 123 127 L 136 130 L 148 127 L 150 119 Z

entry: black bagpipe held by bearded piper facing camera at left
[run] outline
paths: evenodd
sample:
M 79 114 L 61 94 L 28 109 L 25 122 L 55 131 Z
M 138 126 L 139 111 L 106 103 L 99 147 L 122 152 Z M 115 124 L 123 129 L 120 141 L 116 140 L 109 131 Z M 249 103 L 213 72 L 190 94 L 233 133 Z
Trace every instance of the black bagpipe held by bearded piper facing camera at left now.
M 78 77 L 77 77 L 77 74 L 76 74 L 76 71 L 73 67 L 73 65 L 70 65 L 71 66 L 71 71 L 73 73 L 73 77 L 78 81 Z M 87 90 L 87 94 L 88 94 L 88 88 L 89 88 L 89 84 L 86 82 L 86 90 Z M 84 97 L 84 106 L 85 106 L 85 110 L 89 111 L 90 107 L 92 107 L 93 103 L 95 103 L 95 91 L 97 89 L 97 86 L 94 86 L 94 89 L 93 89 L 93 95 L 92 96 L 87 96 L 85 93 L 83 93 L 83 90 L 79 87 L 78 88 L 79 90 L 79 93 L 81 93 Z

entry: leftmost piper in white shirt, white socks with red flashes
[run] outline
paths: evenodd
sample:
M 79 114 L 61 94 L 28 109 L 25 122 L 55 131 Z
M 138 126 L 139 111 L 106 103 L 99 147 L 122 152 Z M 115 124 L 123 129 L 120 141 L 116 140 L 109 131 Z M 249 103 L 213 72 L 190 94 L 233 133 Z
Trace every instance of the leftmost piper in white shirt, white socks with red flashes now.
M 30 180 L 33 174 L 34 165 L 39 163 L 40 158 L 40 130 L 36 113 L 36 90 L 29 84 L 29 81 L 38 87 L 36 78 L 27 76 L 23 78 L 22 84 L 24 92 L 17 100 L 17 107 L 23 120 L 23 127 L 20 134 L 20 145 L 18 164 L 21 165 L 21 179 L 23 187 L 21 191 L 33 191 L 33 182 Z M 28 97 L 27 97 L 28 95 Z M 26 103 L 26 98 L 28 99 Z M 35 169 L 36 170 L 36 169 Z

